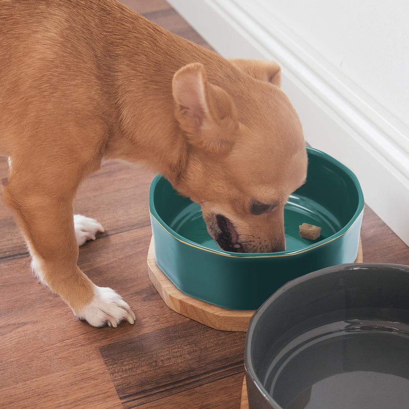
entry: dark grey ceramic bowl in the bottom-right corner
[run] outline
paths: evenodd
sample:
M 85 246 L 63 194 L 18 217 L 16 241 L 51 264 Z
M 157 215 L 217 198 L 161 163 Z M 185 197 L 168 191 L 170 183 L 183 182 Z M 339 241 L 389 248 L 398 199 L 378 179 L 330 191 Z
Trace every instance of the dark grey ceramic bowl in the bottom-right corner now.
M 409 266 L 344 264 L 277 290 L 248 326 L 250 409 L 407 409 Z

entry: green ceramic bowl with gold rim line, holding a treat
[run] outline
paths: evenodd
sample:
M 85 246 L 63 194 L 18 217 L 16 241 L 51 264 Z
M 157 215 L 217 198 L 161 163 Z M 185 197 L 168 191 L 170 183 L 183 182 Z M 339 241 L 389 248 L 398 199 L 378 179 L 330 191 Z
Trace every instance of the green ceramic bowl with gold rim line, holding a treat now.
M 356 176 L 328 154 L 307 148 L 307 183 L 284 210 L 286 251 L 230 253 L 207 233 L 200 206 L 156 175 L 149 206 L 157 265 L 184 293 L 231 309 L 257 309 L 287 281 L 328 266 L 353 263 L 359 245 L 363 195 Z M 299 225 L 322 227 L 315 240 Z

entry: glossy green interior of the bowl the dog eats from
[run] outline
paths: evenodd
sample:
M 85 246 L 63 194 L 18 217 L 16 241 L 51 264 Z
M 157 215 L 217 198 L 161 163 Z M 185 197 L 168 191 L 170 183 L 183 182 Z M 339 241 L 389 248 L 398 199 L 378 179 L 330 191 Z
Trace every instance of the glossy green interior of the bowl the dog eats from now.
M 355 175 L 321 151 L 307 148 L 307 152 L 307 183 L 290 196 L 284 209 L 286 253 L 346 230 L 363 208 L 363 197 Z M 200 206 L 178 195 L 164 177 L 158 177 L 156 181 L 151 210 L 152 205 L 172 233 L 220 251 L 208 234 Z M 321 236 L 314 241 L 300 237 L 299 225 L 302 223 L 320 226 Z

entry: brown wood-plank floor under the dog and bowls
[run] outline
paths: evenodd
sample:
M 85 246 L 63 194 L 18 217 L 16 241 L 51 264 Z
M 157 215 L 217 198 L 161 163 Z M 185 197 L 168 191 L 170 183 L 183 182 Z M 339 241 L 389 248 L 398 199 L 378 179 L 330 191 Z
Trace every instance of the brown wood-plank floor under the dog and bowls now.
M 161 26 L 207 44 L 163 0 L 125 4 Z M 106 233 L 80 249 L 79 265 L 133 308 L 133 326 L 96 329 L 37 283 L 11 211 L 0 201 L 0 407 L 238 409 L 244 333 L 210 329 L 171 311 L 147 275 L 153 174 L 110 161 L 78 192 L 75 211 Z M 0 180 L 7 161 L 0 158 Z M 409 264 L 409 249 L 369 209 L 365 262 Z

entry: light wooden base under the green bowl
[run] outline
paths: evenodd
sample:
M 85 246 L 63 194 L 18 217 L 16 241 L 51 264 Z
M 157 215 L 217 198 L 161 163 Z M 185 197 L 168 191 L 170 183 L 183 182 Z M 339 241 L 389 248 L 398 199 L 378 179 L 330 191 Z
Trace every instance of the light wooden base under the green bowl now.
M 359 238 L 358 255 L 355 263 L 361 263 L 362 260 L 362 243 Z M 247 331 L 248 322 L 255 310 L 231 310 L 219 307 L 180 291 L 157 266 L 153 237 L 148 251 L 148 275 L 165 304 L 173 311 L 222 331 Z

